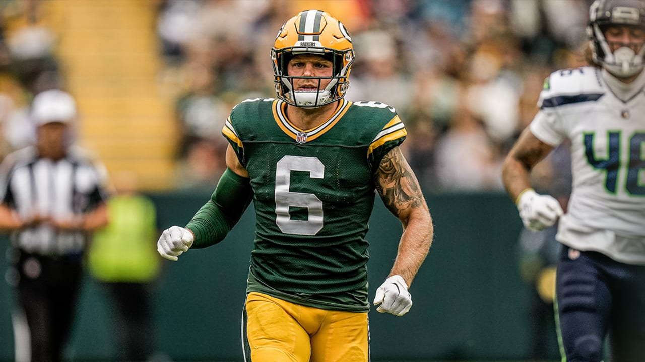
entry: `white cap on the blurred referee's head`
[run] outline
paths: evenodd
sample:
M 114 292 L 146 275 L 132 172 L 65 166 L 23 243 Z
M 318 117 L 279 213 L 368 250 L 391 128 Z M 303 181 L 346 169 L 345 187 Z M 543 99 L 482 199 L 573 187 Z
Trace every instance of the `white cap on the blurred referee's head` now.
M 37 126 L 51 122 L 68 123 L 76 117 L 74 97 L 62 90 L 41 91 L 32 102 L 32 118 Z

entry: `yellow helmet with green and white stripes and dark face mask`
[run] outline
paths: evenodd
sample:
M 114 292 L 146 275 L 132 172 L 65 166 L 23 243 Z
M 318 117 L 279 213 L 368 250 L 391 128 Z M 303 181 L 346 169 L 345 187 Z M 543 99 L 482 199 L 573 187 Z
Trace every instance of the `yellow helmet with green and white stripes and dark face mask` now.
M 293 79 L 286 66 L 293 55 L 310 53 L 321 55 L 333 63 L 332 77 L 315 77 L 318 89 L 294 91 Z M 348 76 L 354 62 L 352 37 L 345 26 L 323 10 L 304 10 L 286 23 L 275 37 L 271 49 L 275 93 L 279 99 L 293 106 L 316 108 L 344 97 L 350 82 Z M 323 79 L 331 79 L 320 88 Z

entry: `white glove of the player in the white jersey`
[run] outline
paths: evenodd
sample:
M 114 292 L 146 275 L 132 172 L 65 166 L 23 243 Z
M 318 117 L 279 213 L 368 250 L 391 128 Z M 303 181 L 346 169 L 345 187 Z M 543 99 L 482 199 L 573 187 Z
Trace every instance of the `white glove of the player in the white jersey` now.
M 522 191 L 517 200 L 517 210 L 524 226 L 533 231 L 550 227 L 564 213 L 553 196 L 540 195 L 533 189 Z

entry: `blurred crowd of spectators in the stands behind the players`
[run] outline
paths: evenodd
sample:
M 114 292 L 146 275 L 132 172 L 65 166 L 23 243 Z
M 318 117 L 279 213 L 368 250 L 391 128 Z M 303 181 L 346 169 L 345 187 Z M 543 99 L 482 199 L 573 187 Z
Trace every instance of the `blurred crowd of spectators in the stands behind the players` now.
M 3 1 L 0 155 L 30 142 L 28 102 L 62 86 L 39 1 Z M 142 0 L 143 1 L 143 0 Z M 232 106 L 273 97 L 269 50 L 281 24 L 323 8 L 352 35 L 350 100 L 394 106 L 428 192 L 502 189 L 501 162 L 537 111 L 544 79 L 584 64 L 590 0 L 145 0 L 155 12 L 162 86 L 175 96 L 183 187 L 223 172 Z M 16 20 L 18 19 L 18 20 Z M 70 70 L 73 71 L 73 70 Z M 90 121 L 90 120 L 88 120 Z M 535 174 L 550 180 L 550 161 Z M 190 180 L 185 180 L 190 176 Z

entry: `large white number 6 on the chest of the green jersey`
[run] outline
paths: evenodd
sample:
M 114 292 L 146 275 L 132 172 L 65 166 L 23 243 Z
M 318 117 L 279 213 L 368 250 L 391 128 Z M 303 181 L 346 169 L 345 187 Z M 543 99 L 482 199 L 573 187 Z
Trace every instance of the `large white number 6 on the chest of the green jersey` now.
M 275 224 L 284 234 L 313 236 L 323 229 L 323 201 L 313 193 L 289 191 L 291 171 L 323 178 L 324 165 L 316 157 L 286 155 L 275 165 Z M 293 220 L 289 207 L 306 207 L 307 220 Z

